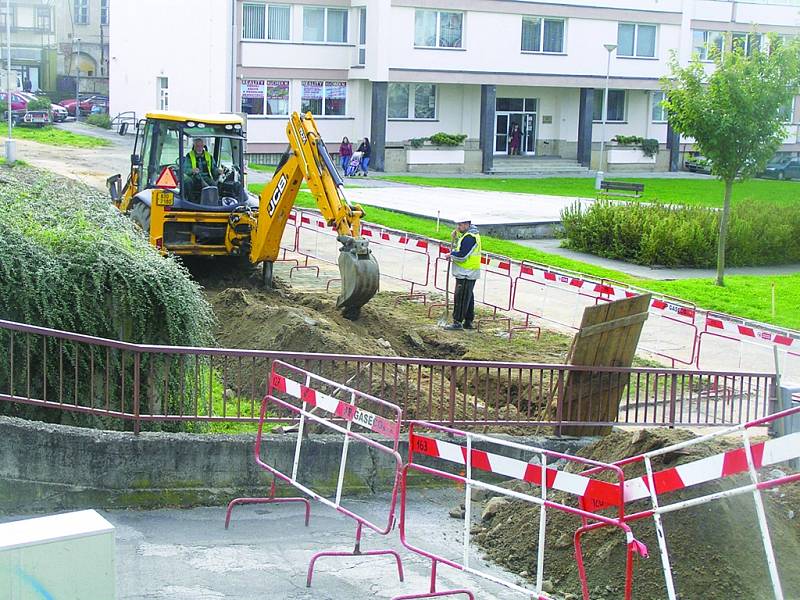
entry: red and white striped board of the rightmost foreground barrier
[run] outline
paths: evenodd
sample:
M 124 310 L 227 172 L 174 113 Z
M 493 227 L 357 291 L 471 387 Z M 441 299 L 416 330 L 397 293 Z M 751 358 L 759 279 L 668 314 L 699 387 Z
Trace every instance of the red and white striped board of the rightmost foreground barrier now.
M 750 449 L 756 469 L 800 458 L 800 432 L 753 444 Z M 745 472 L 747 472 L 747 455 L 744 448 L 738 448 L 653 473 L 653 482 L 656 494 L 666 494 Z M 650 478 L 646 475 L 625 482 L 626 503 L 649 497 Z M 591 510 L 618 506 L 602 498 L 591 497 L 591 494 L 586 495 L 585 501 Z

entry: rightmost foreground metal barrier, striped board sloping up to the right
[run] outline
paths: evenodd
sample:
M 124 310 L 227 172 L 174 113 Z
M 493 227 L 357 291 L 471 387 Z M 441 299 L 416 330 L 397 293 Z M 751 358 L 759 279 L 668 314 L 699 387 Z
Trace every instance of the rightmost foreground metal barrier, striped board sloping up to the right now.
M 639 512 L 626 514 L 624 516 L 624 521 L 629 523 L 644 518 L 653 518 L 657 533 L 656 537 L 659 543 L 664 581 L 670 600 L 677 600 L 684 596 L 680 595 L 679 586 L 675 583 L 675 561 L 670 556 L 667 546 L 668 536 L 663 523 L 664 515 L 743 494 L 751 494 L 753 497 L 758 526 L 758 532 L 754 534 L 754 539 L 760 538 L 761 541 L 769 571 L 772 597 L 776 600 L 783 600 L 786 597 L 781 586 L 778 564 L 775 557 L 775 548 L 772 543 L 761 492 L 789 483 L 798 482 L 800 481 L 800 473 L 795 472 L 787 475 L 781 472 L 776 477 L 762 479 L 759 476 L 759 471 L 766 468 L 774 469 L 776 465 L 796 461 L 800 458 L 800 432 L 788 433 L 777 439 L 770 439 L 759 443 L 754 443 L 751 438 L 753 435 L 752 430 L 774 426 L 776 422 L 793 419 L 798 414 L 800 414 L 800 406 L 615 463 L 616 466 L 619 467 L 633 463 L 644 463 L 646 475 L 636 479 L 629 479 L 625 482 L 623 504 L 628 505 L 637 501 L 648 501 L 650 507 Z M 676 467 L 666 468 L 661 471 L 654 471 L 653 469 L 652 462 L 656 457 L 675 455 L 691 446 L 717 440 L 721 437 L 730 440 L 734 435 L 740 438 L 739 448 L 684 463 Z M 596 470 L 593 469 L 584 472 L 584 475 L 593 474 L 595 472 Z M 665 502 L 663 498 L 663 496 L 673 492 L 693 489 L 702 484 L 725 480 L 736 475 L 746 475 L 749 481 L 743 484 L 736 480 L 733 481 L 729 487 L 711 493 L 704 493 L 701 489 L 701 495 L 699 496 L 669 503 Z M 615 510 L 620 508 L 619 505 L 613 503 L 609 504 L 599 497 L 592 498 L 591 494 L 587 494 L 584 498 L 584 506 L 588 510 L 593 511 L 602 510 L 604 508 L 613 508 Z M 580 550 L 581 537 L 589 531 L 606 526 L 605 523 L 587 522 L 576 533 L 577 558 L 582 572 L 583 561 Z M 758 537 L 756 537 L 756 535 Z M 793 591 L 794 594 L 797 592 L 798 590 Z M 588 599 L 588 589 L 586 588 L 584 588 L 584 597 Z

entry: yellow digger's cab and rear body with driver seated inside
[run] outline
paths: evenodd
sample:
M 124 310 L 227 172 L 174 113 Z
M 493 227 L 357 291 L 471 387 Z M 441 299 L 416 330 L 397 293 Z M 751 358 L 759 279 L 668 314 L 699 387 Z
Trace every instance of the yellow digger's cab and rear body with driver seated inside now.
M 247 191 L 245 143 L 238 115 L 148 113 L 128 182 L 110 178 L 111 197 L 164 252 L 230 254 L 229 216 L 259 204 Z

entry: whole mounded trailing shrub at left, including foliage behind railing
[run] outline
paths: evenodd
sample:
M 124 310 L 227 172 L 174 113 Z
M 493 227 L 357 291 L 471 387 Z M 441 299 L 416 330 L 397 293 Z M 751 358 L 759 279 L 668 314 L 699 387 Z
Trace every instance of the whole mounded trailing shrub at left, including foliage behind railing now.
M 134 343 L 198 346 L 213 341 L 213 315 L 198 285 L 178 261 L 162 257 L 151 247 L 106 197 L 30 168 L 5 170 L 2 179 L 0 319 Z M 17 357 L 13 373 L 11 352 Z M 19 360 L 21 356 L 26 360 Z M 143 385 L 169 381 L 170 389 L 165 385 L 163 396 L 169 403 L 166 408 L 188 410 L 188 398 L 178 392 L 175 364 L 165 366 L 161 361 L 154 371 L 150 360 L 141 355 Z M 22 391 L 34 398 L 82 405 L 111 398 L 112 410 L 131 410 L 131 353 L 125 356 L 115 350 L 91 355 L 88 347 L 72 342 L 40 336 L 26 339 L 22 334 L 12 338 L 0 330 L 0 389 L 7 390 L 10 381 L 17 386 L 25 381 L 26 361 L 33 365 L 33 377 L 27 389 L 16 388 L 17 394 Z M 41 368 L 43 364 L 46 369 Z M 62 383 L 64 374 L 69 376 L 67 385 Z M 105 382 L 98 381 L 106 377 Z M 0 411 L 119 427 L 118 421 L 7 403 L 0 403 Z

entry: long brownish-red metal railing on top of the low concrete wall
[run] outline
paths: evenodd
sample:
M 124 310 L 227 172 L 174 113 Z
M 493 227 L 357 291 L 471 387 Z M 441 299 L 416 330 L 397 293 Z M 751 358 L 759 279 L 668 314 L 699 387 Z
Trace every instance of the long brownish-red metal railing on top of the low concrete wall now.
M 775 383 L 765 373 L 147 346 L 0 321 L 0 401 L 134 431 L 155 422 L 257 423 L 275 359 L 392 402 L 407 419 L 459 427 L 558 431 L 581 424 L 565 415 L 591 414 L 570 403 L 619 388 L 613 424 L 731 425 L 769 414 Z M 577 393 L 565 394 L 570 374 L 587 371 Z

